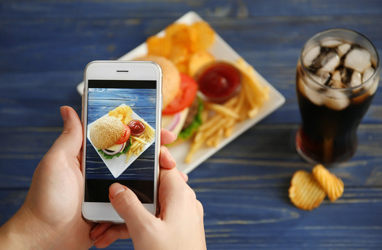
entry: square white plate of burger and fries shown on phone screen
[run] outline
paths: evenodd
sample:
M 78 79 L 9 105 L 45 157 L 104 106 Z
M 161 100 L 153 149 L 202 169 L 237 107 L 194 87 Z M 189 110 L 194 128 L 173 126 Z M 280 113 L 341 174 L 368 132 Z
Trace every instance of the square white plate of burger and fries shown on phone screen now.
M 124 103 L 88 127 L 90 143 L 115 178 L 155 140 L 155 129 Z

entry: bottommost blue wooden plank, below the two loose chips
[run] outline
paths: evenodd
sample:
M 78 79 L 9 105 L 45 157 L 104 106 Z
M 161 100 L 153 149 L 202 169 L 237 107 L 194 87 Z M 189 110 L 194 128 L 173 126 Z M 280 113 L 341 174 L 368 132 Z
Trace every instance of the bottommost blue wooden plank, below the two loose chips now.
M 285 188 L 196 190 L 204 204 L 208 249 L 380 249 L 381 188 L 351 188 L 313 211 L 292 206 Z M 25 190 L 0 190 L 0 224 L 21 206 Z M 12 208 L 12 209 L 10 209 Z M 130 245 L 118 241 L 108 249 Z M 127 248 L 132 249 L 132 248 Z

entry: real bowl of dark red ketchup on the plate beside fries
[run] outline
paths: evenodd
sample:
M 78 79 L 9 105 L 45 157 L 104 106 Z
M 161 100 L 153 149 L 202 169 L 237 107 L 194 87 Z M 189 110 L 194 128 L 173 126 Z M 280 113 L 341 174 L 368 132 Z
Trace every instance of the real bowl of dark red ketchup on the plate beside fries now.
M 199 90 L 211 101 L 226 101 L 240 85 L 240 72 L 228 63 L 214 63 L 197 77 Z

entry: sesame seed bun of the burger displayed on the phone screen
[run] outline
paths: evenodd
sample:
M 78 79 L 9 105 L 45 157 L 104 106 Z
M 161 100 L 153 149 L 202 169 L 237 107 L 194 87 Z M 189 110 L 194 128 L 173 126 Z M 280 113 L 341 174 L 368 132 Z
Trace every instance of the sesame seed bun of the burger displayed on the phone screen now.
M 121 138 L 124 124 L 117 117 L 105 116 L 98 119 L 90 128 L 90 140 L 94 147 L 107 149 Z

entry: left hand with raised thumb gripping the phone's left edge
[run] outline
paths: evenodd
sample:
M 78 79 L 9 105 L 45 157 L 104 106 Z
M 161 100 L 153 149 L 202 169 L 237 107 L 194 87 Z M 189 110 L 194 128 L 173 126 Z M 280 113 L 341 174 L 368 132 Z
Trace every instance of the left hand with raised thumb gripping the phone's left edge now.
M 1 227 L 7 240 L 13 243 L 8 249 L 88 249 L 92 246 L 89 232 L 93 224 L 81 216 L 81 121 L 70 107 L 61 107 L 60 112 L 63 133 L 35 169 L 22 207 Z

